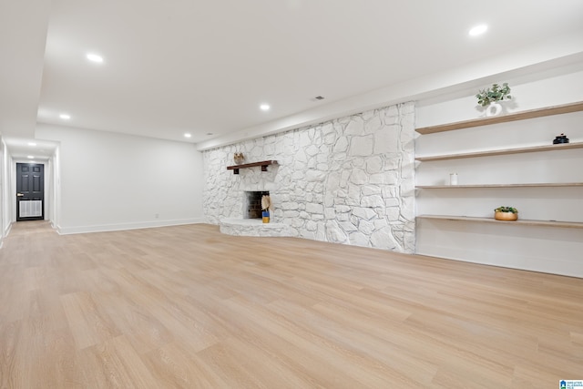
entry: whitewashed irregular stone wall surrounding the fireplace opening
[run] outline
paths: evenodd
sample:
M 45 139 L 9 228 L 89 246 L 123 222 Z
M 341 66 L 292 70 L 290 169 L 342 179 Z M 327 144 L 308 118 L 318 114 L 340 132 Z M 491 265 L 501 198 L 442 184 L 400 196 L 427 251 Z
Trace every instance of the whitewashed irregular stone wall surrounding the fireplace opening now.
M 240 169 L 276 159 L 267 172 Z M 414 103 L 242 141 L 203 152 L 210 223 L 242 218 L 243 192 L 269 190 L 271 221 L 292 236 L 414 252 Z

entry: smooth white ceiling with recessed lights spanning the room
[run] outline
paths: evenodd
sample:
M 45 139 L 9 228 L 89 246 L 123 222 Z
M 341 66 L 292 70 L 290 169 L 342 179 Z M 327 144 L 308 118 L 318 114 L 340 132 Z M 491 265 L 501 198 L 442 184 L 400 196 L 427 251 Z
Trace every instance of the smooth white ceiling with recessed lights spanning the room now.
M 22 0 L 1 7 L 0 130 L 9 138 L 34 138 L 39 122 L 208 142 L 583 28 L 580 0 Z M 480 23 L 489 26 L 486 35 L 468 36 Z M 88 62 L 87 52 L 105 62 Z M 58 117 L 64 112 L 67 121 Z

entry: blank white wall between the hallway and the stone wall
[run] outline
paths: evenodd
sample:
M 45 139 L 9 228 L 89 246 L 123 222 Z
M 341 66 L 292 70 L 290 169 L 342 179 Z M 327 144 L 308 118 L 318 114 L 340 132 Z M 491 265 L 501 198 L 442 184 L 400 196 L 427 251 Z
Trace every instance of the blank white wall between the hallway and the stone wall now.
M 38 125 L 36 138 L 60 142 L 60 233 L 202 221 L 202 157 L 194 145 L 50 125 Z

